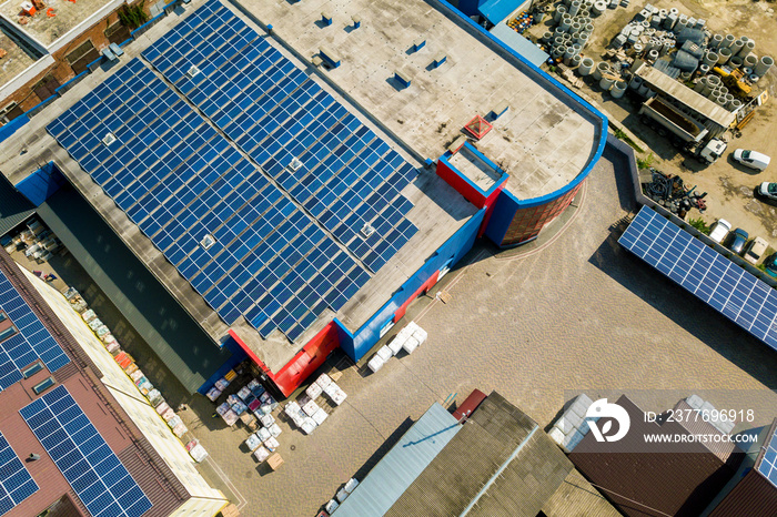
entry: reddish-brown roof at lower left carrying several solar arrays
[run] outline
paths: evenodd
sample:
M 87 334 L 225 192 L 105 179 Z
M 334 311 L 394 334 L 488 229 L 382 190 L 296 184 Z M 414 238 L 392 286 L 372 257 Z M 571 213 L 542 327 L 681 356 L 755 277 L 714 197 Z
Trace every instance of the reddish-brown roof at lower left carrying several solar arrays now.
M 0 485 L 7 489 L 0 496 L 0 515 L 11 509 L 16 515 L 39 515 L 63 496 L 79 515 L 169 515 L 188 498 L 183 486 L 4 251 L 0 273 L 4 323 L 10 320 L 20 331 L 10 338 L 4 332 L 0 335 L 3 359 L 10 358 L 2 371 L 9 372 L 11 364 L 24 369 L 0 392 Z M 16 343 L 21 338 L 29 338 L 42 368 L 29 368 L 36 358 Z M 39 351 L 43 345 L 47 351 Z M 41 387 L 47 378 L 48 387 Z M 32 453 L 40 458 L 27 460 Z

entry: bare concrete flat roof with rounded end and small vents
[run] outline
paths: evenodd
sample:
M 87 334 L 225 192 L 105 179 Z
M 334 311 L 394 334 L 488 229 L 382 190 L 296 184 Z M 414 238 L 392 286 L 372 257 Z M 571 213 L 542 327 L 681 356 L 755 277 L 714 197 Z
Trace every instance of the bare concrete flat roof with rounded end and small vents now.
M 332 49 L 342 64 L 327 77 L 426 158 L 443 154 L 475 114 L 506 100 L 509 110 L 476 146 L 511 174 L 506 187 L 518 197 L 563 187 L 595 155 L 598 125 L 591 112 L 557 95 L 536 69 L 495 52 L 437 0 L 241 3 L 305 59 Z M 333 17 L 331 26 L 319 23 L 322 11 Z M 359 29 L 351 27 L 355 14 Z M 426 44 L 413 52 L 418 37 Z M 434 68 L 440 53 L 447 59 Z M 396 70 L 410 77 L 408 88 L 394 82 Z

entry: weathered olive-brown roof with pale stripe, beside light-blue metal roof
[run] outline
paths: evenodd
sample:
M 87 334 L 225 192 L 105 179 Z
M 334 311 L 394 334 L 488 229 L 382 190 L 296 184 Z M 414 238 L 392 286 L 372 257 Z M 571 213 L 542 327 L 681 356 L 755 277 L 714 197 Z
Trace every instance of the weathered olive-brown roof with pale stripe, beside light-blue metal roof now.
M 386 515 L 538 515 L 572 469 L 532 418 L 492 393 Z

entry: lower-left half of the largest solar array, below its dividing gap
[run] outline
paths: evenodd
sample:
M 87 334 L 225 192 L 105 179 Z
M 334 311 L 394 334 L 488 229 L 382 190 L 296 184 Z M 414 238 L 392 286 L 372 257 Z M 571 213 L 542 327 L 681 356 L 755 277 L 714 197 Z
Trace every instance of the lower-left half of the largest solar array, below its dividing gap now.
M 281 328 L 295 339 L 326 307 L 342 307 L 335 290 L 361 266 L 324 273 L 341 260 L 332 239 L 153 72 L 134 60 L 93 93 L 49 131 L 224 322 L 243 314 L 264 337 Z M 118 141 L 105 145 L 92 128 Z M 322 267 L 311 267 L 314 256 Z

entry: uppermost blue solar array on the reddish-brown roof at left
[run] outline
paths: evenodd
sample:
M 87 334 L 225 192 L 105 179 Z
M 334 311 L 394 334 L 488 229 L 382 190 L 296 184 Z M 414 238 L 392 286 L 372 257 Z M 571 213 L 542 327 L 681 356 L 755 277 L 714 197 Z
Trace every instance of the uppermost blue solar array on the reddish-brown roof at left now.
M 0 342 L 0 389 L 21 381 L 20 371 L 39 358 L 49 372 L 56 372 L 70 363 L 70 358 L 2 272 L 0 311 L 7 314 L 19 331 Z

